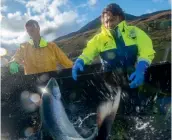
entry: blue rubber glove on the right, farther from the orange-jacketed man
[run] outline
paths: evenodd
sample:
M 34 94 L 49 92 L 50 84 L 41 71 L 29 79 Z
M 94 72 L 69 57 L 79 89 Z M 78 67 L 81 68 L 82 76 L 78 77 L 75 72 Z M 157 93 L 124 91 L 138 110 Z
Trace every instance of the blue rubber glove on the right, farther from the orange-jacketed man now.
M 136 71 L 133 72 L 129 80 L 131 83 L 129 84 L 130 88 L 136 88 L 144 83 L 144 74 L 149 64 L 146 61 L 139 61 L 136 66 Z

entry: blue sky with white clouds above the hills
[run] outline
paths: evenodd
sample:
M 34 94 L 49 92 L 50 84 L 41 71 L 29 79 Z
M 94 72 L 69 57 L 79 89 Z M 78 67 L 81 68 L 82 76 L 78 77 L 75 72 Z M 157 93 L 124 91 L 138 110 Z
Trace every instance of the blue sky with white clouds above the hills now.
M 1 0 L 1 47 L 16 50 L 29 36 L 24 25 L 35 19 L 48 41 L 79 30 L 100 16 L 109 3 L 117 3 L 125 13 L 139 16 L 171 8 L 172 0 Z

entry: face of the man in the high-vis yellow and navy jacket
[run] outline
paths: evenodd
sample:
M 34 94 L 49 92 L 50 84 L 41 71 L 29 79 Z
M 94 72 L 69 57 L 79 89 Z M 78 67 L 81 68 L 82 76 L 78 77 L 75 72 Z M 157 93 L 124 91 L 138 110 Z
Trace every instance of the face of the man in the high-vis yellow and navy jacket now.
M 113 16 L 111 12 L 106 12 L 103 15 L 102 22 L 107 29 L 114 29 L 119 23 L 119 16 Z

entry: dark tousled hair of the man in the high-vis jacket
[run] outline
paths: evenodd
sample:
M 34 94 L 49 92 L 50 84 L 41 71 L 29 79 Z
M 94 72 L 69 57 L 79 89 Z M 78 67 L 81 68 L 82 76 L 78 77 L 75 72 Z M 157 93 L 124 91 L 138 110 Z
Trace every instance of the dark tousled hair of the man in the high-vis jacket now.
M 121 18 L 121 20 L 125 20 L 124 11 L 116 3 L 111 3 L 111 4 L 107 5 L 107 7 L 104 8 L 104 10 L 102 12 L 102 16 L 107 12 L 111 12 L 113 16 L 119 16 Z

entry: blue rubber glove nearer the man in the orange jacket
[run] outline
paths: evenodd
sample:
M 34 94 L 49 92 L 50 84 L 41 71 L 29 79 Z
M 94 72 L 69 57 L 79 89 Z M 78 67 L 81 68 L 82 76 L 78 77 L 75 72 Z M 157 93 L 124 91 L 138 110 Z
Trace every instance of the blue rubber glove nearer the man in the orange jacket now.
M 78 58 L 75 61 L 74 66 L 72 67 L 72 77 L 74 80 L 77 80 L 77 72 L 78 70 L 84 71 L 84 61 L 80 58 Z

